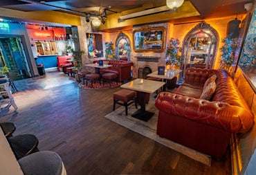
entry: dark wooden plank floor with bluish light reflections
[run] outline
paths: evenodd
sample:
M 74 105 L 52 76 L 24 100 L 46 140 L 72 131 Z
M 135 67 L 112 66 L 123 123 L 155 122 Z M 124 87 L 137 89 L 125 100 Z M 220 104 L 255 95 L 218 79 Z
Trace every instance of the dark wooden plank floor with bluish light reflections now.
M 212 160 L 208 167 L 104 118 L 119 87 L 80 89 L 73 77 L 60 72 L 15 84 L 19 113 L 0 116 L 0 122 L 15 122 L 14 135 L 35 134 L 40 150 L 62 157 L 68 175 L 230 174 L 229 158 Z

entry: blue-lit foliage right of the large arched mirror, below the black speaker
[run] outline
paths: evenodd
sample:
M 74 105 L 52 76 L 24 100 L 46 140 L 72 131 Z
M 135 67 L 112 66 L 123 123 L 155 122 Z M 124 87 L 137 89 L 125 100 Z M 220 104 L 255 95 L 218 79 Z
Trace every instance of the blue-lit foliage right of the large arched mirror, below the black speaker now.
M 231 38 L 230 35 L 228 37 L 221 39 L 221 43 L 223 46 L 219 50 L 221 50 L 221 68 L 228 69 L 232 66 L 235 58 L 235 50 L 237 48 L 237 38 Z

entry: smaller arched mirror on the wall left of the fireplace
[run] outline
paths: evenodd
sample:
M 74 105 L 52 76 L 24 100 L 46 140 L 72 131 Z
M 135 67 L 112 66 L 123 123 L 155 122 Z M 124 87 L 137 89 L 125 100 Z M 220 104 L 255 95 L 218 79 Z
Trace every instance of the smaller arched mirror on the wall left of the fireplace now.
M 131 60 L 131 42 L 129 37 L 122 32 L 116 39 L 116 59 Z

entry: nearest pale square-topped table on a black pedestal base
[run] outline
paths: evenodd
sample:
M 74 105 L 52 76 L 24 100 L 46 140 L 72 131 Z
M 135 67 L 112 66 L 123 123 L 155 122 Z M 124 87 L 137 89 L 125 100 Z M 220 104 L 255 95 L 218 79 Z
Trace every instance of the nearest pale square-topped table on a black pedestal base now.
M 140 109 L 131 116 L 147 122 L 154 115 L 151 111 L 146 111 L 146 93 L 154 93 L 160 89 L 165 82 L 156 82 L 152 80 L 136 79 L 126 84 L 122 84 L 121 88 L 130 89 L 140 93 Z

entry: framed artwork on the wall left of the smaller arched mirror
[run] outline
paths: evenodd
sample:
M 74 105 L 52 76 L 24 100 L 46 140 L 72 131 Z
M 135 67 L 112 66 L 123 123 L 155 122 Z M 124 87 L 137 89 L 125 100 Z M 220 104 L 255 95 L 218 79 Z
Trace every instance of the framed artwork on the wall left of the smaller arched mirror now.
M 89 58 L 103 57 L 102 35 L 86 33 Z

